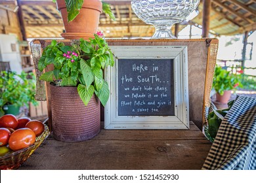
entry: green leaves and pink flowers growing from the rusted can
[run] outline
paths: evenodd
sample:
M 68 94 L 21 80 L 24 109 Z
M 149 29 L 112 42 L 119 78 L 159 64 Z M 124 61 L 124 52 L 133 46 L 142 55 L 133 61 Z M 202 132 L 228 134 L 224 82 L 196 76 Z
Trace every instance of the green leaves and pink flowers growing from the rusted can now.
M 95 39 L 74 40 L 70 45 L 53 40 L 43 50 L 38 69 L 43 71 L 53 64 L 54 70 L 43 73 L 40 80 L 59 82 L 60 86 L 77 86 L 77 92 L 87 105 L 96 94 L 102 105 L 106 105 L 110 90 L 103 78 L 103 70 L 114 65 L 113 54 L 107 42 L 95 34 Z

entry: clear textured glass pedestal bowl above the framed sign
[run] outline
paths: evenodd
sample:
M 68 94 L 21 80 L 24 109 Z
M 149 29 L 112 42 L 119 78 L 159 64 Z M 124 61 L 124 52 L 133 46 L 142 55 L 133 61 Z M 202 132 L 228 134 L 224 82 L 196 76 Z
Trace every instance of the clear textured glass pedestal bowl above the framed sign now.
M 152 39 L 177 39 L 171 26 L 185 20 L 199 3 L 200 0 L 132 0 L 131 8 L 143 22 L 156 27 Z

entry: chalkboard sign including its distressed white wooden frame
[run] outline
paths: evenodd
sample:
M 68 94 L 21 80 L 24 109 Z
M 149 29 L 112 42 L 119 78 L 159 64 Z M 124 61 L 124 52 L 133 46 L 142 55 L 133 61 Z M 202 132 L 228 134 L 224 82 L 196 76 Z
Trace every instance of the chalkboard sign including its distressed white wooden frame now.
M 120 44 L 110 45 L 115 65 L 104 73 L 105 129 L 188 129 L 187 46 Z

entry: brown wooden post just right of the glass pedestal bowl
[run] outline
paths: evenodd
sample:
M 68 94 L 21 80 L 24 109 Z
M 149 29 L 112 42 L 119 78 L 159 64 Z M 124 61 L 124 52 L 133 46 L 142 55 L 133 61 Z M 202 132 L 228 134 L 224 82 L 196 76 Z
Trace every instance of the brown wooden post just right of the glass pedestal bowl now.
M 203 0 L 203 31 L 202 37 L 209 37 L 211 0 Z

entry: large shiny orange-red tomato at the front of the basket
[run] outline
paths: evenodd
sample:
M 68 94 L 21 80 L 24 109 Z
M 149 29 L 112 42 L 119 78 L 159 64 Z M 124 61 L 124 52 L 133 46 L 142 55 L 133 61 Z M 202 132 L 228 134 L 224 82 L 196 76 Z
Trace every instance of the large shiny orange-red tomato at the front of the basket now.
M 27 127 L 16 129 L 9 139 L 11 150 L 21 150 L 27 148 L 35 142 L 35 133 Z

